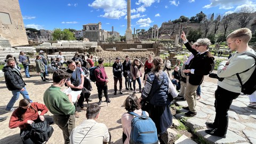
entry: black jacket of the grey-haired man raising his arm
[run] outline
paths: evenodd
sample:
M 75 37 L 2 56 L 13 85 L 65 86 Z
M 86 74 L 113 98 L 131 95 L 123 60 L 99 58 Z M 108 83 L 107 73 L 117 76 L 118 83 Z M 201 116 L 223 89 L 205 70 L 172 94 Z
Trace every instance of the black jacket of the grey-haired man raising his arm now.
M 210 74 L 212 65 L 214 64 L 214 57 L 209 51 L 199 54 L 196 50 L 192 49 L 188 42 L 185 43 L 185 46 L 195 55 L 188 65 L 188 69 L 195 69 L 194 74 L 188 74 L 188 82 L 191 85 L 200 85 L 204 80 L 204 76 Z

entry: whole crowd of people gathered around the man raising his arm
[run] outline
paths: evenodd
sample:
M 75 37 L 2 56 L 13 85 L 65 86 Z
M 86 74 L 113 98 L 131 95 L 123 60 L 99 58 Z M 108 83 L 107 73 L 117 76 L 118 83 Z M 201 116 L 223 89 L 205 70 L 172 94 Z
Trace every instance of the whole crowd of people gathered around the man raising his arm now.
M 114 95 L 123 94 L 123 77 L 125 78 L 125 89 L 133 91 L 125 101 L 124 106 L 127 112 L 133 112 L 141 115 L 146 111 L 155 123 L 157 130 L 157 137 L 160 143 L 163 142 L 163 135 L 167 134 L 166 130 L 172 125 L 172 114 L 170 105 L 173 99 L 186 100 L 188 112 L 185 113 L 188 117 L 197 115 L 196 100 L 201 98 L 201 87 L 204 76 L 208 75 L 212 66 L 214 65 L 214 57 L 209 52 L 210 40 L 207 38 L 199 38 L 194 44 L 190 44 L 186 38 L 186 34 L 182 31 L 181 38 L 192 53 L 189 58 L 184 57 L 184 61 L 178 61 L 174 66 L 174 71 L 171 76 L 171 62 L 168 57 L 165 60 L 148 55 L 146 63 L 142 63 L 139 58 L 134 58 L 131 62 L 129 56 L 125 57 L 124 62 L 121 62 L 119 57 L 116 58 L 113 64 L 114 76 Z M 234 74 L 242 72 L 251 67 L 254 59 L 242 55 L 245 52 L 256 54 L 249 46 L 248 42 L 251 39 L 251 31 L 247 28 L 242 28 L 233 31 L 227 36 L 228 47 L 232 51 L 237 51 L 228 61 L 223 61 L 218 67 L 218 76 L 222 77 L 222 81 L 218 81 L 218 88 L 215 91 L 215 119 L 214 122 L 206 122 L 209 130 L 206 133 L 215 135 L 221 138 L 226 138 L 228 128 L 228 113 L 229 107 L 234 99 L 241 93 L 239 82 Z M 44 63 L 44 52 L 40 51 L 36 57 L 36 70 L 40 73 L 42 81 L 47 78 L 47 62 Z M 10 55 L 9 55 L 10 56 Z M 23 143 L 33 143 L 34 139 L 31 137 L 23 137 L 23 131 L 30 129 L 30 124 L 47 121 L 49 124 L 55 123 L 62 130 L 65 143 L 102 143 L 110 142 L 111 134 L 108 128 L 103 123 L 98 123 L 97 119 L 100 114 L 100 105 L 102 103 L 102 91 L 106 102 L 110 103 L 108 97 L 108 83 L 110 81 L 104 67 L 104 59 L 98 59 L 98 66 L 94 67 L 92 55 L 81 55 L 78 53 L 72 60 L 63 61 L 61 52 L 57 59 L 52 59 L 51 65 L 56 67 L 53 71 L 53 84 L 44 92 L 45 105 L 33 102 L 29 98 L 26 90 L 26 83 L 23 81 L 17 63 L 13 57 L 6 60 L 6 66 L 3 68 L 5 82 L 7 89 L 13 94 L 9 103 L 7 103 L 6 111 L 12 111 L 9 127 L 11 129 L 20 127 L 20 135 Z M 20 62 L 26 66 L 26 55 L 20 53 Z M 66 63 L 67 70 L 62 70 L 60 67 Z M 88 63 L 88 65 L 87 65 Z M 182 65 L 183 64 L 183 65 Z M 141 81 L 142 73 L 140 68 L 144 66 L 145 74 L 143 81 Z M 30 77 L 28 67 L 25 68 L 26 77 Z M 93 68 L 93 71 L 89 68 Z M 165 73 L 167 70 L 167 74 Z M 242 82 L 246 82 L 253 72 L 253 68 L 245 73 L 242 73 Z M 86 108 L 84 101 L 92 101 L 90 99 L 90 91 L 92 85 L 89 73 L 95 76 L 95 84 L 98 90 L 98 103 L 88 104 Z M 139 93 L 136 89 L 136 81 L 139 85 Z M 119 89 L 117 90 L 117 82 L 119 82 Z M 133 87 L 132 84 L 133 83 Z M 143 87 L 142 87 L 143 83 Z M 74 101 L 69 93 L 64 93 L 60 89 L 63 86 L 70 87 L 71 91 L 78 91 L 75 95 L 77 100 Z M 178 94 L 179 92 L 179 94 Z M 23 98 L 19 102 L 19 107 L 14 109 L 14 103 L 22 94 Z M 252 94 L 253 95 L 253 94 Z M 145 104 L 146 103 L 146 104 Z M 250 105 L 254 105 L 251 102 Z M 256 104 L 255 104 L 256 105 Z M 78 106 L 78 108 L 77 108 Z M 78 118 L 78 110 L 86 110 L 86 120 L 80 125 L 76 126 L 75 122 Z M 44 114 L 50 111 L 53 116 L 45 117 Z M 41 111 L 40 115 L 38 111 Z M 123 127 L 123 143 L 130 143 L 131 138 L 131 121 L 134 115 L 124 113 L 121 116 Z M 6 118 L 5 118 L 6 119 Z

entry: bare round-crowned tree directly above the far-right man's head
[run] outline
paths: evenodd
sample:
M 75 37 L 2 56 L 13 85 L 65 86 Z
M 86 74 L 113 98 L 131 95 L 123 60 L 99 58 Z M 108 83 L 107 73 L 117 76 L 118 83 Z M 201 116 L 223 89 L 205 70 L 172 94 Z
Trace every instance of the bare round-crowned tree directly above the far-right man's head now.
M 244 6 L 241 8 L 241 10 L 239 11 L 239 16 L 238 16 L 238 25 L 241 28 L 245 28 L 248 23 L 250 22 L 250 20 L 253 18 L 252 13 L 253 9 L 249 6 Z

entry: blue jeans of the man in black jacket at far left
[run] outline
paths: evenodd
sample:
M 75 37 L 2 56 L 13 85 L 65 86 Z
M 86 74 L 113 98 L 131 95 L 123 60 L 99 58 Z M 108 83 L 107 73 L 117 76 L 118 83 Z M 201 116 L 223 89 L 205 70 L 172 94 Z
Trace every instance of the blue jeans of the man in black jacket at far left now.
M 20 93 L 22 94 L 24 99 L 29 99 L 30 100 L 28 92 L 26 90 L 26 87 L 23 87 L 23 88 L 25 89 L 25 91 L 20 91 L 20 90 L 12 91 L 13 96 L 12 96 L 11 100 L 9 101 L 9 103 L 7 104 L 5 110 L 10 110 L 13 107 L 14 103 L 19 99 Z M 30 102 L 32 102 L 32 100 L 30 100 Z

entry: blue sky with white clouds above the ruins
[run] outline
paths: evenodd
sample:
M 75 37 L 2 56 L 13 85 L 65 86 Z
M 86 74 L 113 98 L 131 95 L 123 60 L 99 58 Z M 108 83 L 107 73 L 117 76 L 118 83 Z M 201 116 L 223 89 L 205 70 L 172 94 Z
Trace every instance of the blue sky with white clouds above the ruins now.
M 54 30 L 82 30 L 88 23 L 102 23 L 102 29 L 125 35 L 127 0 L 19 0 L 25 27 Z M 249 6 L 256 10 L 256 0 L 131 0 L 131 28 L 148 30 L 153 25 L 193 17 L 203 11 L 207 16 L 239 12 Z

